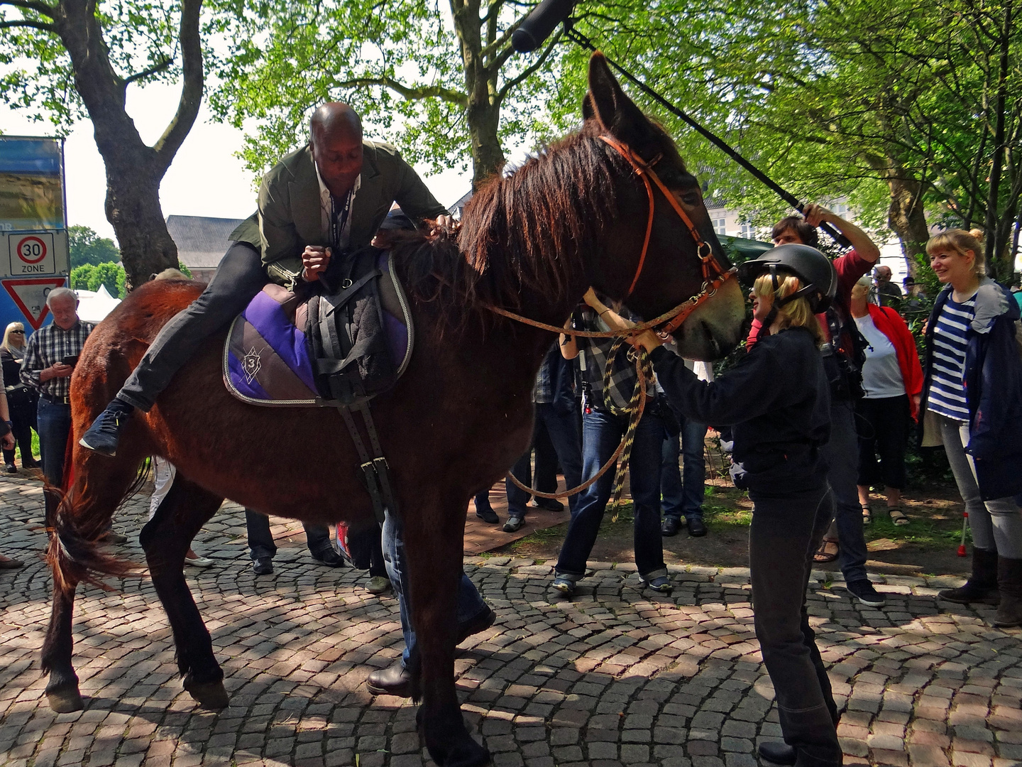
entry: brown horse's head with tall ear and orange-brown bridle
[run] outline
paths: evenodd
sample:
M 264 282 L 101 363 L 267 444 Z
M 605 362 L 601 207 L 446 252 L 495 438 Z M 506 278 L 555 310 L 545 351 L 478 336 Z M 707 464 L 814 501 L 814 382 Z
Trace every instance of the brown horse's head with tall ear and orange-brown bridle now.
M 731 262 L 713 232 L 699 182 L 686 169 L 666 132 L 624 94 L 600 53 L 590 59 L 583 112 L 583 135 L 600 139 L 609 162 L 620 171 L 618 220 L 608 228 L 606 246 L 589 268 L 594 287 L 623 301 L 646 319 L 710 292 L 704 286 L 707 275 L 721 276 Z M 700 257 L 699 241 L 705 243 L 702 256 L 711 252 L 711 260 Z M 704 269 L 704 263 L 708 268 Z M 730 277 L 712 296 L 700 300 L 673 335 L 685 357 L 717 359 L 741 340 L 744 317 L 742 288 L 737 278 Z

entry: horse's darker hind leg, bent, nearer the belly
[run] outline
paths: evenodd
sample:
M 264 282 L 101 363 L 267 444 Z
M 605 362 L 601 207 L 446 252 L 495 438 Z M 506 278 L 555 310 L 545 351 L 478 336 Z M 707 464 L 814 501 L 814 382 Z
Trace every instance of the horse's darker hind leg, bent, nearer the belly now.
M 217 513 L 223 500 L 178 472 L 171 491 L 139 536 L 152 585 L 174 632 L 184 687 L 207 709 L 227 706 L 224 672 L 213 653 L 213 640 L 188 589 L 183 568 L 192 539 Z

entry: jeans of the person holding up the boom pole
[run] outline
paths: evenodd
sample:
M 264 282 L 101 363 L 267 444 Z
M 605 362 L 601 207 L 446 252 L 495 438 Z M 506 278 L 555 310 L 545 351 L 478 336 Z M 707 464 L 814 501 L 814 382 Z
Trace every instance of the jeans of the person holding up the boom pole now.
M 844 582 L 866 579 L 866 537 L 858 505 L 858 434 L 850 402 L 831 401 L 831 438 L 820 448 L 830 464 L 827 480 L 834 491 L 834 524 L 841 555 L 838 563 Z

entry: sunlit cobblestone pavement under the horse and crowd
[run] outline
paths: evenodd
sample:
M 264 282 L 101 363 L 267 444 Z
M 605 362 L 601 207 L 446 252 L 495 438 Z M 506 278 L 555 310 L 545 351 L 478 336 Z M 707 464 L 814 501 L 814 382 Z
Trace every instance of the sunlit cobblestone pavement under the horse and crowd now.
M 117 527 L 137 530 L 144 501 Z M 42 548 L 40 509 L 38 484 L 0 482 L 0 550 L 30 558 Z M 230 707 L 196 708 L 151 584 L 125 579 L 123 591 L 80 589 L 75 657 L 86 709 L 52 713 L 38 661 L 49 577 L 33 560 L 0 572 L 0 765 L 431 764 L 415 708 L 374 698 L 364 684 L 401 649 L 390 595 L 366 593 L 364 574 L 315 565 L 300 542 L 281 548 L 274 576 L 256 578 L 237 507 L 195 547 L 216 559 L 188 580 Z M 137 543 L 124 549 L 142 559 Z M 549 594 L 550 565 L 466 560 L 498 621 L 463 645 L 458 688 L 495 765 L 756 764 L 756 742 L 780 729 L 748 571 L 675 568 L 667 597 L 642 592 L 634 565 L 591 567 L 567 602 Z M 1022 634 L 989 628 L 985 611 L 935 601 L 938 587 L 960 582 L 889 577 L 885 610 L 853 604 L 839 581 L 814 582 L 810 614 L 846 708 L 845 764 L 1022 765 Z

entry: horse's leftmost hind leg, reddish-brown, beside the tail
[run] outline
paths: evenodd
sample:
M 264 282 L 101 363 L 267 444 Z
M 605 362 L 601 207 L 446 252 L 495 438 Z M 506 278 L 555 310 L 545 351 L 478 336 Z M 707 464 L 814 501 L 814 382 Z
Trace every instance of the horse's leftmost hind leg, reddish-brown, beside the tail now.
M 53 572 L 53 605 L 41 662 L 43 672 L 49 673 L 47 702 L 53 711 L 62 714 L 79 711 L 83 706 L 78 675 L 72 664 L 75 590 L 87 575 L 86 563 L 106 561 L 93 541 L 109 524 L 137 473 L 137 460 L 127 456 L 79 461 L 76 455 L 76 481 L 68 500 L 60 505 L 55 495 L 46 494 L 46 523 L 50 532 L 47 558 Z

